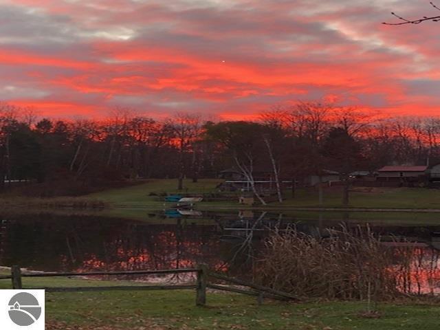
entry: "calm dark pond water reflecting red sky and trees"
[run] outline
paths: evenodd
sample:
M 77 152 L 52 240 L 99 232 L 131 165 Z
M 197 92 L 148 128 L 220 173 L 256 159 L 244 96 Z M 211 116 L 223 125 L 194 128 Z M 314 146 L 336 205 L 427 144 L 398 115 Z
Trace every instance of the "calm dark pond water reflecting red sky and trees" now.
M 0 265 L 20 265 L 30 270 L 142 270 L 188 267 L 206 263 L 237 276 L 252 272 L 267 228 L 298 230 L 325 236 L 331 228 L 366 225 L 385 237 L 413 242 L 422 261 L 434 261 L 439 271 L 440 225 L 412 225 L 408 215 L 400 225 L 353 216 L 229 212 L 178 214 L 145 212 L 142 221 L 86 215 L 0 214 Z M 303 219 L 304 218 L 304 219 Z M 307 218 L 307 219 L 305 219 Z M 329 219 L 331 218 L 331 219 Z M 391 223 L 391 221 L 388 221 Z M 426 221 L 436 223 L 437 221 Z M 440 222 L 440 221 L 439 221 Z M 243 241 L 249 244 L 243 245 Z M 437 284 L 435 284 L 437 285 Z

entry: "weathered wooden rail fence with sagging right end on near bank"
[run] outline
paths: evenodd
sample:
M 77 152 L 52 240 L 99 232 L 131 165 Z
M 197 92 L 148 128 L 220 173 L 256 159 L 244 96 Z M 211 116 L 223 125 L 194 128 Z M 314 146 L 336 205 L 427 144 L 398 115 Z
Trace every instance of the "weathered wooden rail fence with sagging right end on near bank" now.
M 197 306 L 206 305 L 206 289 L 217 289 L 238 294 L 247 294 L 258 297 L 258 302 L 263 302 L 263 297 L 277 300 L 299 300 L 298 297 L 286 292 L 280 292 L 270 287 L 264 287 L 255 283 L 239 280 L 237 278 L 228 277 L 215 272 L 210 272 L 208 266 L 198 265 L 195 268 L 182 268 L 177 270 L 135 270 L 127 272 L 47 272 L 47 273 L 22 273 L 19 266 L 11 267 L 10 276 L 0 276 L 0 279 L 12 280 L 13 289 L 23 289 L 23 277 L 72 277 L 72 276 L 111 276 L 111 275 L 153 275 L 153 274 L 181 274 L 196 273 L 197 279 L 195 285 L 115 285 L 115 286 L 98 286 L 98 287 L 41 287 L 33 289 L 45 289 L 47 292 L 97 292 L 97 291 L 128 291 L 128 290 L 181 290 L 195 289 Z M 249 287 L 250 290 L 241 287 L 231 287 L 226 285 L 217 285 L 208 283 L 208 278 L 216 278 L 217 280 L 240 285 L 241 287 Z

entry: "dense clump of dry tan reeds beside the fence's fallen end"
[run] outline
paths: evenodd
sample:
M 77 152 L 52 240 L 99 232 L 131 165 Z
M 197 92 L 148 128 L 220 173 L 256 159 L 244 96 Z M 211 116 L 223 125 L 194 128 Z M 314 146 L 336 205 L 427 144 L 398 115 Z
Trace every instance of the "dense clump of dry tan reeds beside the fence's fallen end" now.
M 259 261 L 259 281 L 307 298 L 384 300 L 401 295 L 393 250 L 369 227 L 318 239 L 297 230 L 273 232 Z

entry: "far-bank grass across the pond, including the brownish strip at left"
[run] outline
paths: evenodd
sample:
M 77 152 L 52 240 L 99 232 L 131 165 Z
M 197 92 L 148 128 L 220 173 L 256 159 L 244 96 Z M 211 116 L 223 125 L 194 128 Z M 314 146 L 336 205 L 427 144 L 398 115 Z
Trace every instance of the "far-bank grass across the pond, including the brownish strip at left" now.
M 177 179 L 151 179 L 140 184 L 113 188 L 85 195 L 80 198 L 55 199 L 0 199 L 0 206 L 26 206 L 26 208 L 56 207 L 76 205 L 84 208 L 95 206 L 111 206 L 111 215 L 131 217 L 138 213 L 136 209 L 162 210 L 169 208 L 173 203 L 165 203 L 162 194 L 200 194 L 217 192 L 216 186 L 221 179 L 199 179 L 193 183 L 190 179 L 184 180 L 184 189 L 177 190 Z M 231 193 L 233 196 L 239 192 Z M 3 205 L 3 204 L 4 205 Z M 75 204 L 76 203 L 76 204 Z M 332 187 L 324 190 L 326 208 L 342 207 L 342 188 Z M 239 205 L 238 198 L 231 201 L 203 201 L 197 204 L 200 210 L 239 210 L 245 208 L 261 208 L 266 210 L 293 210 L 294 208 L 318 208 L 318 192 L 315 188 L 298 189 L 296 197 L 292 192 L 285 191 L 283 203 L 272 202 L 267 206 Z M 351 208 L 406 208 L 406 209 L 440 209 L 440 190 L 428 188 L 374 188 L 373 192 L 350 192 Z M 119 208 L 119 209 L 118 209 Z

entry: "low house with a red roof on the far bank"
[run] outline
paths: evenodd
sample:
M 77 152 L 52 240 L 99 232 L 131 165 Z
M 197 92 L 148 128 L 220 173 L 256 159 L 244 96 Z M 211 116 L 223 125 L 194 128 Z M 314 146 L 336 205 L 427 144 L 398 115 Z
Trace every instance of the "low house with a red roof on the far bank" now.
M 428 166 L 384 166 L 377 170 L 378 180 L 415 182 L 423 181 Z

